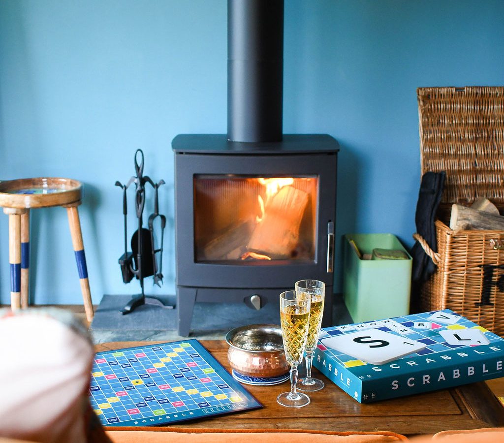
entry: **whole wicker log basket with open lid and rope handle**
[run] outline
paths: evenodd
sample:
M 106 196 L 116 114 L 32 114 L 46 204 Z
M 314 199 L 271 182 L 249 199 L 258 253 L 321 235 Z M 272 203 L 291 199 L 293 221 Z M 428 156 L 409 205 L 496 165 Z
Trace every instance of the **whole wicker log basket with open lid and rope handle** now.
M 453 231 L 452 203 L 486 197 L 504 208 L 504 87 L 419 88 L 421 172 L 446 171 L 436 221 L 437 270 L 422 288 L 423 310 L 450 308 L 504 335 L 504 231 Z

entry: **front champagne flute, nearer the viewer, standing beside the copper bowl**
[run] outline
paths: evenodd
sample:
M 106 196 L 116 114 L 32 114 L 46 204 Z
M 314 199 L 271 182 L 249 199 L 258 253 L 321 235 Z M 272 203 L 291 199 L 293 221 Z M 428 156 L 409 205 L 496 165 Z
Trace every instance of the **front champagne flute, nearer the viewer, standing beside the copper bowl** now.
M 296 391 L 297 366 L 303 360 L 308 335 L 311 298 L 304 292 L 285 291 L 280 294 L 280 325 L 285 357 L 290 364 L 290 392 L 277 397 L 283 406 L 300 408 L 310 402 L 306 394 Z

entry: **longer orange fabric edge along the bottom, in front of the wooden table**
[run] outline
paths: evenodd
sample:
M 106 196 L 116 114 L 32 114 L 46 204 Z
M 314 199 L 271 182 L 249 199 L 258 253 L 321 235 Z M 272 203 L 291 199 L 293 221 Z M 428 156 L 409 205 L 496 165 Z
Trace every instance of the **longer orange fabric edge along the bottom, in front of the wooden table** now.
M 113 443 L 306 443 L 313 434 L 317 443 L 391 443 L 407 441 L 404 435 L 394 432 L 330 432 L 297 429 L 188 429 L 166 427 L 107 428 Z

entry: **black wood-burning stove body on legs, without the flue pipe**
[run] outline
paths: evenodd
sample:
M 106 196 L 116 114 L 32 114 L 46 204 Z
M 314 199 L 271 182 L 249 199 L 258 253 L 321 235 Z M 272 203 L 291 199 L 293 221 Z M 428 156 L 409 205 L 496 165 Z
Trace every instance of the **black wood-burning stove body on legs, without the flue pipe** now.
M 195 301 L 278 304 L 307 278 L 327 285 L 329 326 L 338 142 L 284 135 L 251 150 L 225 135 L 179 135 L 172 145 L 179 334 Z

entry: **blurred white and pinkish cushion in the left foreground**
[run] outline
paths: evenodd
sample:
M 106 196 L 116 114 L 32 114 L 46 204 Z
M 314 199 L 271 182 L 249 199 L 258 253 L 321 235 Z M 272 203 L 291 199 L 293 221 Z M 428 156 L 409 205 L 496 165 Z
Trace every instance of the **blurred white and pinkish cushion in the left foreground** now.
M 0 309 L 0 355 L 1 437 L 108 441 L 89 403 L 93 344 L 70 312 Z

